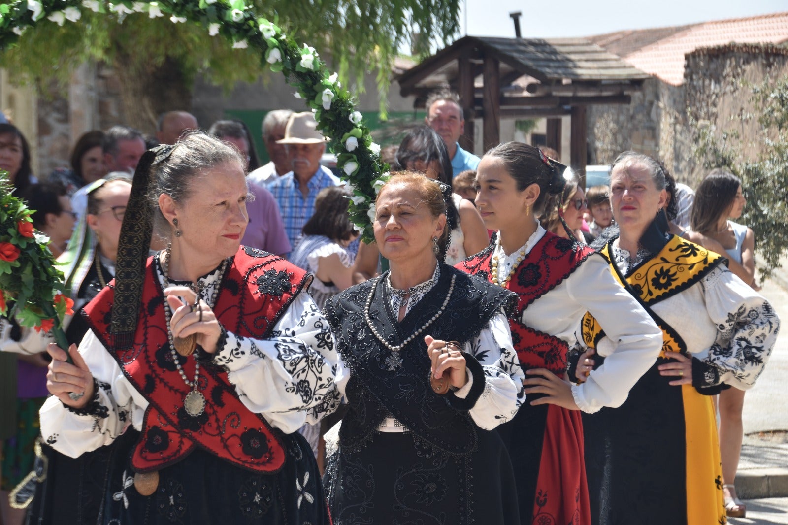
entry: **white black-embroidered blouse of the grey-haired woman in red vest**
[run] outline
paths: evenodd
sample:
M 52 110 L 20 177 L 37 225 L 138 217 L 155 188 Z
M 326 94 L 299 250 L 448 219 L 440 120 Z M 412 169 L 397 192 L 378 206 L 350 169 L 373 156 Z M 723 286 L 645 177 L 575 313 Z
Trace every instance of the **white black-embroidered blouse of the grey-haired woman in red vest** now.
M 156 268 L 163 283 L 158 265 Z M 210 300 L 219 278 L 218 269 L 203 277 L 203 300 Z M 142 430 L 148 407 L 142 393 L 125 378 L 92 331 L 80 343 L 80 354 L 99 385 L 99 403 L 109 409 L 109 415 L 77 415 L 57 397 L 47 399 L 40 411 L 43 437 L 71 457 L 110 444 L 129 424 Z M 304 423 L 316 423 L 338 404 L 334 375 L 339 357 L 329 323 L 307 292 L 299 292 L 269 340 L 227 333 L 214 362 L 226 368 L 244 406 L 286 434 Z

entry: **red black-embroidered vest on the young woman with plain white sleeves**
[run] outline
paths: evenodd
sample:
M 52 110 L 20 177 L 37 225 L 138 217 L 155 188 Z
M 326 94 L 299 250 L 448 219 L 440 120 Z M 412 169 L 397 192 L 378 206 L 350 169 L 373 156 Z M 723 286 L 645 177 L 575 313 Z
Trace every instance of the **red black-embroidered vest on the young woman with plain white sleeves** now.
M 490 246 L 456 267 L 492 282 L 492 251 Z M 509 327 L 523 370 L 546 368 L 559 375 L 567 370 L 569 345 L 549 333 L 533 330 L 520 319 L 530 303 L 554 289 L 593 253 L 585 244 L 547 232 L 522 259 L 504 286 L 519 296 L 517 317 L 509 319 Z

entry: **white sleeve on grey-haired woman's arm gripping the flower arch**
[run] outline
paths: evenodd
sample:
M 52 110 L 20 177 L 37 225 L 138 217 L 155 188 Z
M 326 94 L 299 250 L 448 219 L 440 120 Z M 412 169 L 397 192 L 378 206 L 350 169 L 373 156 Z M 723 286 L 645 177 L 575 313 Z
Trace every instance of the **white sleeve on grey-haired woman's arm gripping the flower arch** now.
M 39 411 L 44 441 L 69 457 L 109 445 L 129 424 L 141 424 L 147 408 L 147 401 L 90 330 L 80 343 L 80 354 L 95 380 L 93 399 L 75 410 L 51 396 Z

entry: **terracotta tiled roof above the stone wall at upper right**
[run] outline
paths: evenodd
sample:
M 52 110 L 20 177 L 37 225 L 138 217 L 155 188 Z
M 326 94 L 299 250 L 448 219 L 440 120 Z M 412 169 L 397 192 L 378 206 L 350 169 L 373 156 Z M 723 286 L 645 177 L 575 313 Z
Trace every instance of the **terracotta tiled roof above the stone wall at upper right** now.
M 693 24 L 626 56 L 626 61 L 667 84 L 684 81 L 684 55 L 727 43 L 788 42 L 788 12 Z

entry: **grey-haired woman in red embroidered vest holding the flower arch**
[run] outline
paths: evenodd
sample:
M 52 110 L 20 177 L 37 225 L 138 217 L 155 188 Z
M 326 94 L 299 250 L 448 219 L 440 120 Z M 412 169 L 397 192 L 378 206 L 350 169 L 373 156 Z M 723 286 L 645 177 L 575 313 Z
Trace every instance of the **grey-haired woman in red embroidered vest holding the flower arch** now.
M 333 410 L 338 358 L 310 276 L 240 246 L 243 166 L 200 132 L 143 155 L 91 330 L 73 364 L 48 348 L 50 445 L 76 457 L 141 432 L 110 474 L 105 523 L 329 523 L 296 430 Z M 151 209 L 170 244 L 147 257 Z

